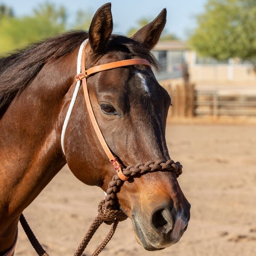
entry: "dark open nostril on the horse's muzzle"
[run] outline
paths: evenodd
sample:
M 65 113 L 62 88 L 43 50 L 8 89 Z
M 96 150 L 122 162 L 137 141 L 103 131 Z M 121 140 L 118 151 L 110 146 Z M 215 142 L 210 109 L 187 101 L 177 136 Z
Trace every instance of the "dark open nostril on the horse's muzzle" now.
M 173 229 L 173 218 L 171 212 L 166 209 L 157 209 L 151 217 L 152 227 L 161 233 L 169 233 Z

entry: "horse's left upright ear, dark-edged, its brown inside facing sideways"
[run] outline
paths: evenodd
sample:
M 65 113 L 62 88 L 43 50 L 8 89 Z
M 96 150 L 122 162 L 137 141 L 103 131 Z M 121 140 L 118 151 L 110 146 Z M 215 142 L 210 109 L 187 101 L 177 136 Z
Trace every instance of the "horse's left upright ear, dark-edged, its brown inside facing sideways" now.
M 113 29 L 111 3 L 106 3 L 94 14 L 88 32 L 88 38 L 93 52 L 102 53 Z

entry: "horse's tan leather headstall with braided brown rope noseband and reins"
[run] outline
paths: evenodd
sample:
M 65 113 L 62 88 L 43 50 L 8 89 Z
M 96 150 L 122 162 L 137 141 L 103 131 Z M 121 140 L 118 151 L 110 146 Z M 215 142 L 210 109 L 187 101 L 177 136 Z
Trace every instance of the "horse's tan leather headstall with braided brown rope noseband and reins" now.
M 78 74 L 75 76 L 76 81 L 82 80 L 82 86 L 83 86 L 83 92 L 84 92 L 84 97 L 85 97 L 85 102 L 86 106 L 89 112 L 89 116 L 91 119 L 91 123 L 93 125 L 93 128 L 97 134 L 97 137 L 99 138 L 99 141 L 101 143 L 101 146 L 103 147 L 106 155 L 108 156 L 110 163 L 114 165 L 114 168 L 117 172 L 116 175 L 112 177 L 112 180 L 109 183 L 108 190 L 106 192 L 106 197 L 103 199 L 98 208 L 98 216 L 93 220 L 91 227 L 88 229 L 87 233 L 85 234 L 81 244 L 77 248 L 76 252 L 74 253 L 74 256 L 81 256 L 84 249 L 88 245 L 89 241 L 91 240 L 93 234 L 96 232 L 96 230 L 101 226 L 103 222 L 106 222 L 107 224 L 111 224 L 111 229 L 107 237 L 104 239 L 104 241 L 101 243 L 101 245 L 95 250 L 95 252 L 92 254 L 93 256 L 97 256 L 101 250 L 107 245 L 107 243 L 110 241 L 112 238 L 118 222 L 127 219 L 128 217 L 126 214 L 119 209 L 118 201 L 116 199 L 116 193 L 119 189 L 119 186 L 124 182 L 129 179 L 129 177 L 138 175 L 138 174 L 145 174 L 148 172 L 154 172 L 154 171 L 174 171 L 176 174 L 176 177 L 178 177 L 180 174 L 182 174 L 182 165 L 179 162 L 174 163 L 173 160 L 169 159 L 167 161 L 165 160 L 157 160 L 157 161 L 150 161 L 147 162 L 146 164 L 137 164 L 137 165 L 129 165 L 126 168 L 123 168 L 123 166 L 119 163 L 119 160 L 117 156 L 113 155 L 111 152 L 107 142 L 105 141 L 101 129 L 97 123 L 97 120 L 95 118 L 94 112 L 92 110 L 91 106 L 91 101 L 90 101 L 90 96 L 89 92 L 87 89 L 87 78 L 90 77 L 90 75 L 94 73 L 98 73 L 101 71 L 105 70 L 110 70 L 114 68 L 119 68 L 119 67 L 124 67 L 124 66 L 129 66 L 129 65 L 146 65 L 146 66 L 151 66 L 149 61 L 146 59 L 128 59 L 128 60 L 122 60 L 122 61 L 117 61 L 117 62 L 112 62 L 108 64 L 102 64 L 98 66 L 91 67 L 87 70 L 85 70 L 85 46 L 83 47 L 83 52 L 82 52 L 82 73 Z M 26 226 L 26 229 L 28 232 L 29 227 L 24 216 L 21 215 L 20 221 L 23 222 L 24 226 Z M 25 228 L 24 228 L 25 229 Z M 31 231 L 32 232 L 32 231 Z M 31 235 L 27 234 L 27 236 L 31 236 L 31 240 L 35 240 L 33 237 L 34 234 L 32 233 Z M 30 239 L 30 238 L 29 238 Z M 32 243 L 32 242 L 31 242 Z M 40 254 L 38 255 L 41 256 L 48 256 L 48 254 L 44 251 L 40 245 L 38 245 L 35 242 L 36 246 L 39 247 L 37 249 L 40 251 Z

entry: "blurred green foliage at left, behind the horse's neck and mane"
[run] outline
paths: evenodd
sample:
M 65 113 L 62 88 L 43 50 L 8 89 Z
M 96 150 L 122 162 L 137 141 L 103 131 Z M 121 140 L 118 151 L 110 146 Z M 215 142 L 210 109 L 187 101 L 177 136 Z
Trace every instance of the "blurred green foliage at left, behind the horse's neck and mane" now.
M 88 18 L 87 18 L 88 17 Z M 92 15 L 79 11 L 77 20 L 71 28 L 85 29 L 90 24 Z M 84 26 L 84 27 L 83 27 Z M 63 6 L 56 7 L 46 2 L 34 9 L 31 16 L 15 17 L 13 11 L 0 6 L 0 55 L 15 48 L 52 37 L 68 30 L 67 12 Z

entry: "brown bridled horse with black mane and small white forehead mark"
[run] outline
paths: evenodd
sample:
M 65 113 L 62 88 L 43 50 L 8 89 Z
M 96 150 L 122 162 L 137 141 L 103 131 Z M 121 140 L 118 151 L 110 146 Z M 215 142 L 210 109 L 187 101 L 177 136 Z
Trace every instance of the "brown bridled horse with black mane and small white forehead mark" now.
M 14 251 L 22 211 L 65 164 L 81 182 L 106 192 L 121 165 L 170 159 L 165 126 L 171 99 L 155 79 L 151 67 L 157 69 L 157 61 L 150 53 L 165 22 L 163 9 L 132 37 L 112 34 L 108 3 L 96 11 L 88 32 L 69 31 L 0 59 L 0 255 Z M 95 118 L 119 159 L 115 169 L 95 134 L 82 87 L 61 140 L 76 86 L 77 55 L 86 39 L 86 69 L 130 59 L 149 63 L 87 78 Z M 127 179 L 117 201 L 132 221 L 137 242 L 149 251 L 178 242 L 187 229 L 190 204 L 174 172 L 156 170 Z

